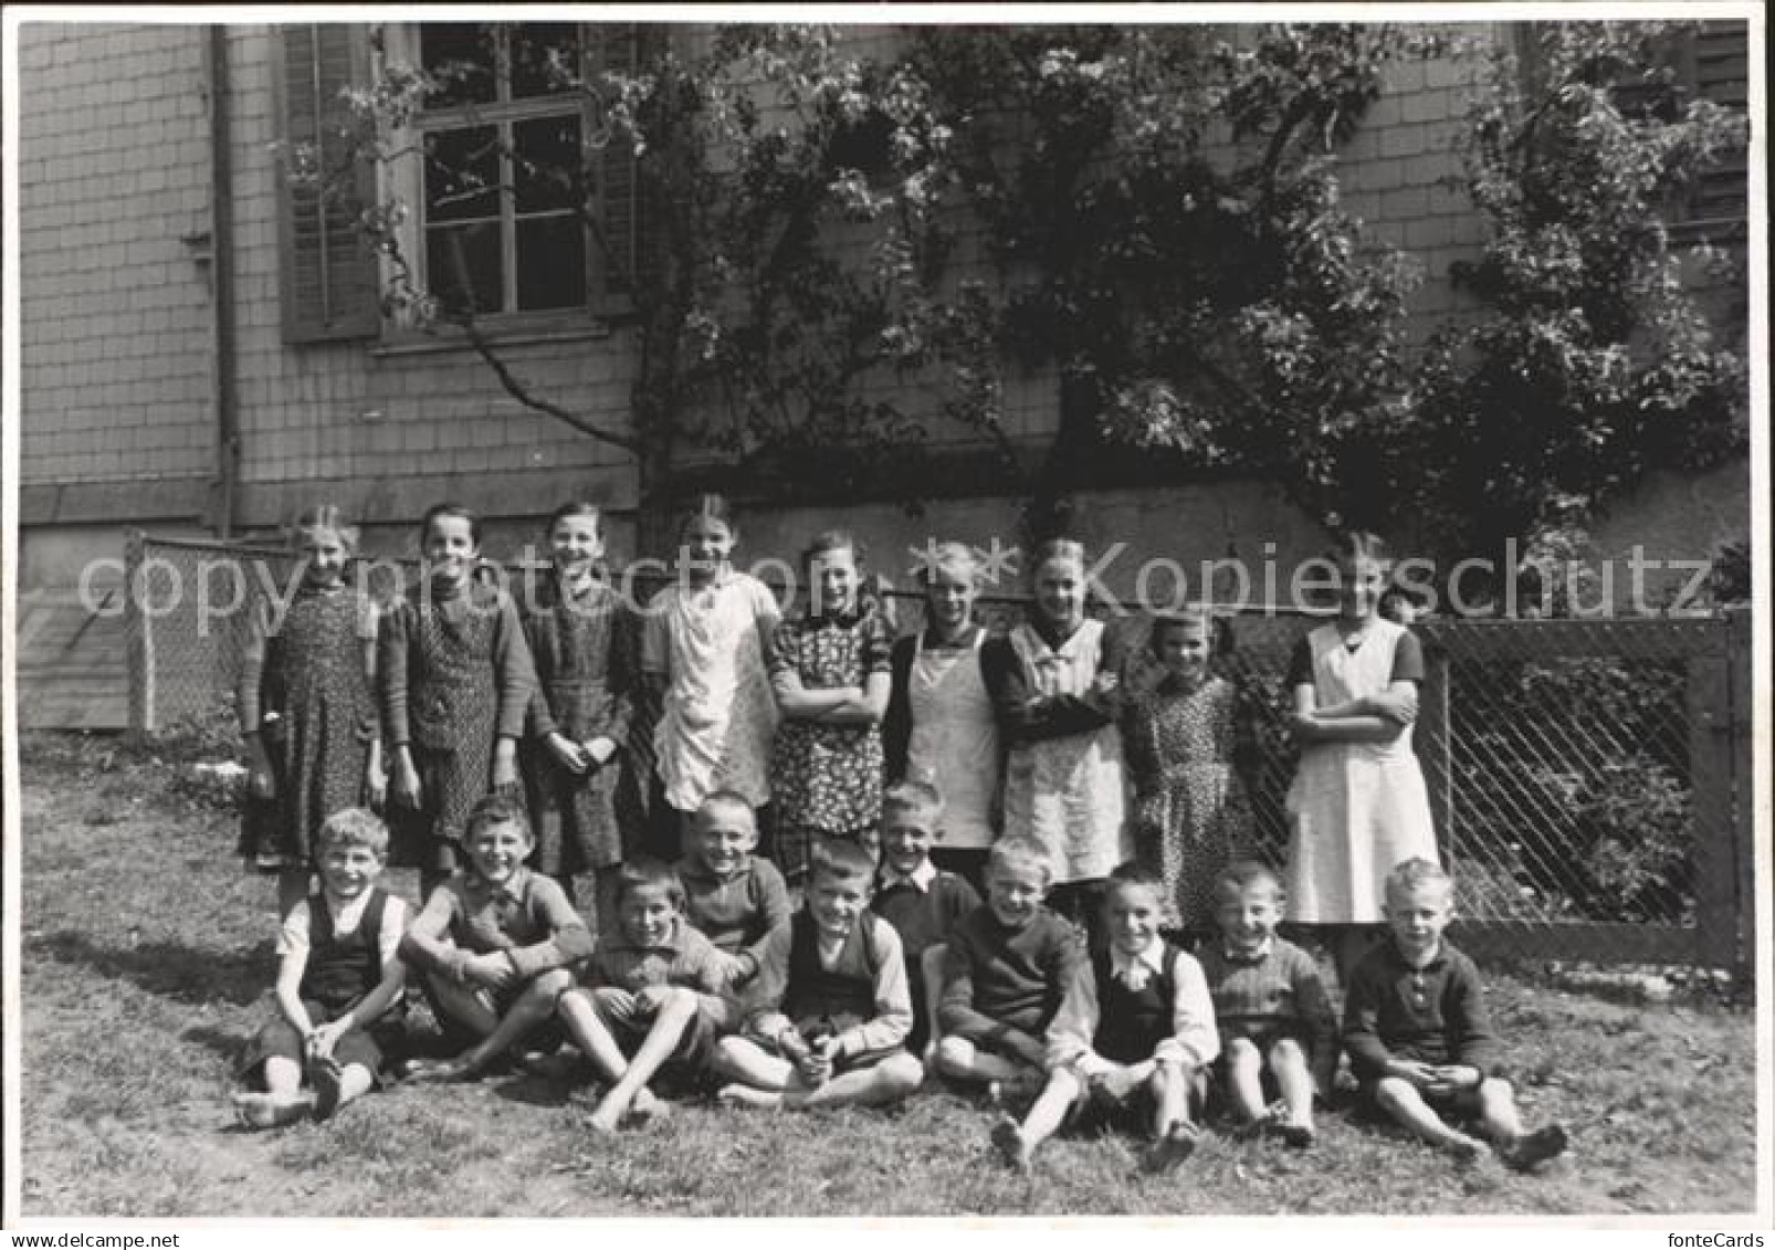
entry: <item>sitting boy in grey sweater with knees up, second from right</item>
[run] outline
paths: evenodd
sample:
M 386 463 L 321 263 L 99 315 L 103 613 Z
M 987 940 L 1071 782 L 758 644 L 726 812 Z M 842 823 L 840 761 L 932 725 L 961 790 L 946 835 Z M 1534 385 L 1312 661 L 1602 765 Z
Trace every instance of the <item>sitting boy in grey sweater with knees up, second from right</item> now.
M 1196 959 L 1214 998 L 1227 1104 L 1250 1127 L 1305 1151 L 1315 1140 L 1314 1094 L 1331 1090 L 1337 1012 L 1319 964 L 1276 936 L 1285 898 L 1276 874 L 1255 861 L 1228 865 L 1214 882 L 1219 938 Z M 1282 1096 L 1278 1113 L 1264 1097 Z

